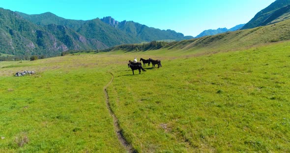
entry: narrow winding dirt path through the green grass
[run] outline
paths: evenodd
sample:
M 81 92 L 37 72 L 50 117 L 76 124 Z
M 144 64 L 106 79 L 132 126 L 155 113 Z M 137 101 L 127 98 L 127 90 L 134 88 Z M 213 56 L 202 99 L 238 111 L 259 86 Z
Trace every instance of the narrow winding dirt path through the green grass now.
M 125 137 L 124 137 L 124 135 L 122 133 L 122 130 L 121 130 L 119 124 L 118 124 L 118 119 L 116 118 L 116 115 L 114 114 L 114 112 L 113 112 L 113 110 L 112 110 L 112 108 L 110 106 L 107 88 L 113 82 L 113 79 L 114 79 L 114 75 L 111 72 L 110 72 L 110 74 L 112 75 L 111 81 L 103 89 L 104 93 L 105 93 L 105 96 L 106 96 L 106 105 L 107 105 L 107 108 L 108 108 L 111 116 L 113 117 L 115 132 L 116 132 L 116 135 L 118 137 L 119 142 L 124 146 L 124 148 L 127 150 L 128 153 L 136 153 L 136 150 L 125 139 Z

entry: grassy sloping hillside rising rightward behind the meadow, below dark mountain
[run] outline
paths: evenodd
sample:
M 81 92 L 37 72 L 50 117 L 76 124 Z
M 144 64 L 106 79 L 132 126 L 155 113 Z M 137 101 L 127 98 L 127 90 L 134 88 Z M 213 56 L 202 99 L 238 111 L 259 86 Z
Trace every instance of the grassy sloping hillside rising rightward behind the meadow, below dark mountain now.
M 151 42 L 149 44 L 121 45 L 105 51 L 149 51 L 159 49 L 161 52 L 172 53 L 176 50 L 182 53 L 211 54 L 219 51 L 235 51 L 263 44 L 290 40 L 290 20 L 274 25 L 261 26 L 252 29 L 226 32 L 214 36 L 182 40 L 179 42 Z

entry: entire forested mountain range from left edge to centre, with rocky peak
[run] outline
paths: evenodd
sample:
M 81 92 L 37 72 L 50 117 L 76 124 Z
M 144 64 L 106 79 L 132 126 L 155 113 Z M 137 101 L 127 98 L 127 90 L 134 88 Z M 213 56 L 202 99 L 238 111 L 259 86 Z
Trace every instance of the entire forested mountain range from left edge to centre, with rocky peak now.
M 120 44 L 189 39 L 174 30 L 160 30 L 112 17 L 69 20 L 46 12 L 28 15 L 0 8 L 0 53 L 56 56 L 69 50 L 102 50 Z

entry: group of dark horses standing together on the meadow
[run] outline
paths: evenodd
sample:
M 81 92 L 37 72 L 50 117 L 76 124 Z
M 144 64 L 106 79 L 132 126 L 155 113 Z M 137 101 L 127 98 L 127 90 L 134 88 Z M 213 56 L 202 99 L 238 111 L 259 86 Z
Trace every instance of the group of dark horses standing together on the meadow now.
M 152 68 L 155 67 L 155 64 L 158 65 L 158 68 L 162 67 L 161 61 L 159 59 L 153 60 L 152 58 L 149 58 L 149 59 L 140 58 L 140 61 L 143 62 L 143 66 L 145 66 L 145 64 L 147 63 L 148 63 L 148 66 L 150 66 L 150 63 L 152 63 Z M 128 68 L 132 69 L 133 75 L 134 75 L 134 70 L 139 70 L 139 75 L 141 74 L 141 70 L 146 71 L 145 69 L 143 69 L 141 62 L 132 62 L 131 60 L 129 60 Z

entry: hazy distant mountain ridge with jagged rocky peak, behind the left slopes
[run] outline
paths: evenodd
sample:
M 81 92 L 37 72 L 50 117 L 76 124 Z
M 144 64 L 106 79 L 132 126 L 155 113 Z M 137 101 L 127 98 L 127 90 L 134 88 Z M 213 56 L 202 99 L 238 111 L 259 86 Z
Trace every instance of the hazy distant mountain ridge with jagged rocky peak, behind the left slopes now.
M 182 33 L 177 33 L 173 30 L 160 30 L 133 21 L 118 22 L 112 17 L 83 21 L 64 19 L 50 12 L 36 15 L 28 15 L 21 12 L 17 13 L 37 25 L 45 26 L 55 24 L 67 26 L 87 38 L 96 39 L 104 43 L 108 47 L 128 43 L 149 42 L 153 40 L 193 38 L 192 36 L 184 37 Z

